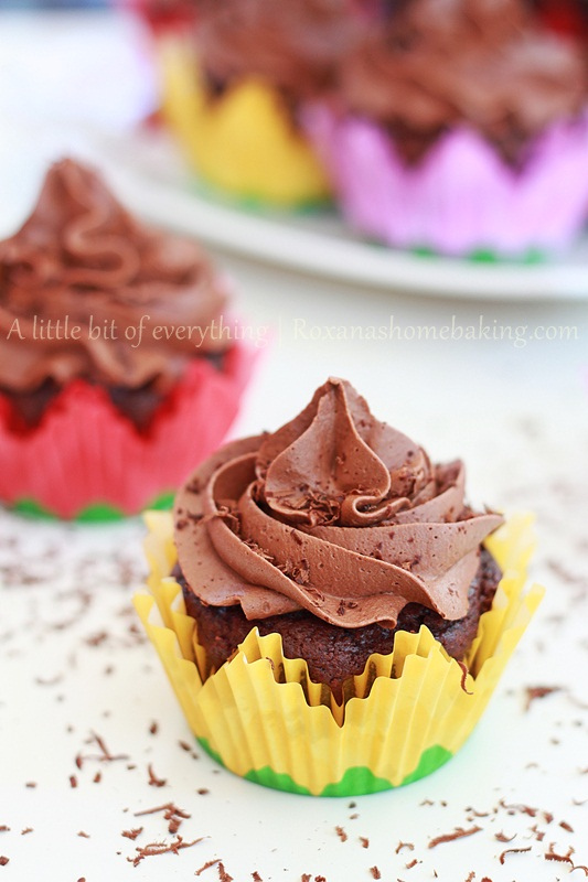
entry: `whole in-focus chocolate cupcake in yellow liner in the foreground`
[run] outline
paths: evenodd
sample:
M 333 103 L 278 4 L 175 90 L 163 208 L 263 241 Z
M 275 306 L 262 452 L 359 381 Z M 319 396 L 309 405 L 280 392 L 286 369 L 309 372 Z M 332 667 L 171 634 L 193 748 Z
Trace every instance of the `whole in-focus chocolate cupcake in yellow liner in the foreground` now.
M 407 783 L 459 749 L 538 600 L 522 595 L 522 524 L 471 510 L 463 486 L 461 462 L 432 465 L 331 379 L 192 474 L 173 545 L 169 516 L 150 518 L 150 589 L 183 662 L 152 602 L 138 609 L 213 755 L 335 795 Z

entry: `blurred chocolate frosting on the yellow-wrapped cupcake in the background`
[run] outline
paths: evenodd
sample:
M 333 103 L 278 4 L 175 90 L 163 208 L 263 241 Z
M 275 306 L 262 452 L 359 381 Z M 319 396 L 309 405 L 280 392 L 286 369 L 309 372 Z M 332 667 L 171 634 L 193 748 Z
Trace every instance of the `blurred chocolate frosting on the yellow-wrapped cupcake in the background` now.
M 349 46 L 349 0 L 201 0 L 197 46 L 215 84 L 257 76 L 297 100 L 321 92 Z

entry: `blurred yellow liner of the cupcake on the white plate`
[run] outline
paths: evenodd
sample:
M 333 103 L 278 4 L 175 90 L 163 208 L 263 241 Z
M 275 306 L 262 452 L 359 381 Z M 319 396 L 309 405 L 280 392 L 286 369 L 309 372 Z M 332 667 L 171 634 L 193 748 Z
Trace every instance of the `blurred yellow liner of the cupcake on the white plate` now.
M 329 195 L 319 160 L 270 85 L 250 77 L 210 101 L 186 39 L 161 37 L 157 53 L 163 115 L 210 184 L 240 200 L 278 206 Z

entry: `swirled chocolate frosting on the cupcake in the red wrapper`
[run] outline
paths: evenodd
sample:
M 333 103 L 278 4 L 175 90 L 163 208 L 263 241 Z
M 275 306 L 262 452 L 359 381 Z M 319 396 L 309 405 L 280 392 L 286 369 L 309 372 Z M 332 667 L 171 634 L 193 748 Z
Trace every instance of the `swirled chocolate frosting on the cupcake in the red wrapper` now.
M 199 245 L 143 225 L 98 174 L 65 159 L 50 169 L 31 217 L 0 243 L 0 386 L 26 391 L 84 377 L 128 388 L 151 381 L 164 392 L 189 359 L 227 347 L 212 334 L 173 333 L 207 327 L 225 301 Z M 145 315 L 137 345 L 131 334 Z M 58 320 L 63 337 L 66 318 L 79 340 L 42 338 Z M 160 338 L 158 325 L 167 329 Z

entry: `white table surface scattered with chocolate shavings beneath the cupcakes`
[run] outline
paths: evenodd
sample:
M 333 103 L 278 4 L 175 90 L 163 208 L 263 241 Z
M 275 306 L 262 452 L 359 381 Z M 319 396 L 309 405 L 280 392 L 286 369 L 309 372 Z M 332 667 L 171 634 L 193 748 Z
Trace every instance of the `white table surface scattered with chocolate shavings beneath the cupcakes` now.
M 66 103 L 51 58 L 73 36 L 84 76 Z M 119 130 L 148 108 L 152 82 L 136 36 L 131 23 L 105 14 L 49 24 L 46 17 L 0 17 L 0 74 L 2 65 L 21 72 L 10 84 L 0 75 L 2 232 L 26 211 L 51 146 L 92 152 L 88 129 Z M 113 45 L 118 54 L 106 51 Z M 110 77 L 100 86 L 105 58 Z M 124 75 L 138 65 L 140 76 Z M 113 77 L 121 85 L 109 114 Z M 32 127 L 39 137 L 23 146 Z M 545 856 L 553 843 L 588 864 L 586 306 L 392 295 L 216 258 L 263 343 L 233 433 L 277 428 L 327 376 L 348 377 L 377 417 L 435 459 L 462 456 L 475 503 L 536 513 L 532 576 L 546 598 L 449 764 L 375 796 L 298 797 L 236 778 L 181 746 L 190 732 L 131 606 L 145 577 L 140 520 L 89 527 L 0 512 L 0 828 L 9 828 L 0 829 L 0 856 L 10 859 L 0 880 L 189 880 L 215 860 L 235 882 L 255 872 L 263 882 L 299 882 L 303 873 L 368 882 L 374 867 L 386 882 L 585 878 Z M 419 326 L 450 326 L 452 316 L 463 329 L 482 323 L 490 338 L 411 338 Z M 365 337 L 391 321 L 403 338 L 349 338 L 352 327 Z M 513 335 L 525 326 L 525 345 L 493 338 L 502 326 Z M 560 326 L 575 329 L 576 338 L 532 338 Z M 534 687 L 554 691 L 527 707 Z M 96 736 L 121 759 L 105 760 Z M 161 787 L 149 784 L 149 766 Z M 133 867 L 137 846 L 172 839 L 162 813 L 137 813 L 169 803 L 190 815 L 179 829 L 184 840 L 204 838 Z M 471 837 L 428 847 L 472 826 L 481 829 Z M 122 835 L 137 827 L 145 828 L 137 840 Z M 414 850 L 397 853 L 399 842 Z M 528 850 L 501 863 L 511 848 Z M 222 879 L 220 864 L 199 878 Z

